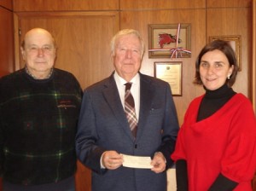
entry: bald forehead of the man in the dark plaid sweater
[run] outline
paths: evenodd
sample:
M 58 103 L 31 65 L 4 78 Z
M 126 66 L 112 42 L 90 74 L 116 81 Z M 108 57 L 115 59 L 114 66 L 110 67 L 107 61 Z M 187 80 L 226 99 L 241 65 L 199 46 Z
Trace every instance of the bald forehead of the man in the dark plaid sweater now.
M 31 32 L 27 32 L 24 38 L 25 46 L 30 45 L 52 45 L 55 46 L 54 38 L 51 36 L 49 32 L 34 30 Z

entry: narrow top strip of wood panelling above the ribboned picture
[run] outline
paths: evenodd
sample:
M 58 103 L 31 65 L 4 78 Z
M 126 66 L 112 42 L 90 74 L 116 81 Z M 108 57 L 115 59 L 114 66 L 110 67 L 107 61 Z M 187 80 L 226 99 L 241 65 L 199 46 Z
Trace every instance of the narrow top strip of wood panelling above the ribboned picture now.
M 205 4 L 206 0 L 120 0 L 120 9 L 198 9 Z

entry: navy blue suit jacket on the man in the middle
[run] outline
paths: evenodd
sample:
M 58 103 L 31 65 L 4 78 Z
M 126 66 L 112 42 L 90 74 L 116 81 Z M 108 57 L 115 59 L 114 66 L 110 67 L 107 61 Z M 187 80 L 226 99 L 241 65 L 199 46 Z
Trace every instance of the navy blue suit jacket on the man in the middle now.
M 84 90 L 79 117 L 76 150 L 79 160 L 92 170 L 92 191 L 166 191 L 166 171 L 119 167 L 101 169 L 100 159 L 107 150 L 136 156 L 166 157 L 172 165 L 177 131 L 177 113 L 170 85 L 140 73 L 140 113 L 137 138 L 131 130 L 119 98 L 113 74 Z

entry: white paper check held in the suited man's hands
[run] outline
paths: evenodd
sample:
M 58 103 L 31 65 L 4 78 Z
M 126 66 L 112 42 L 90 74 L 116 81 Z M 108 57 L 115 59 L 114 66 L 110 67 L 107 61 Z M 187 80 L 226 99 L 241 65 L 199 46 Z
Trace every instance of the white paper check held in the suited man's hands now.
M 129 168 L 137 168 L 137 169 L 151 169 L 153 166 L 150 165 L 151 158 L 150 157 L 138 157 L 131 155 L 123 155 L 123 166 Z

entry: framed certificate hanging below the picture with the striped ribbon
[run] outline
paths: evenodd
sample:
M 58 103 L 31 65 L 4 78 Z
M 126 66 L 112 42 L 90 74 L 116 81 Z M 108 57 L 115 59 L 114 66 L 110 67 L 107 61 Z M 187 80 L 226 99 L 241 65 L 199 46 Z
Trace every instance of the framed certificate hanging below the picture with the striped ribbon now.
M 172 96 L 182 96 L 182 61 L 155 61 L 154 77 L 170 84 Z

